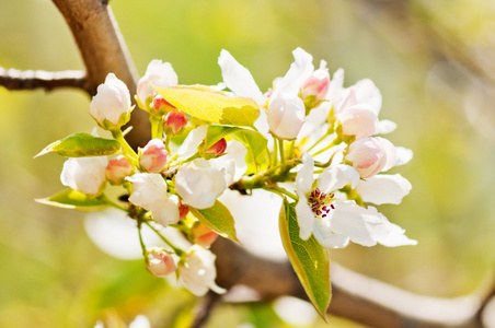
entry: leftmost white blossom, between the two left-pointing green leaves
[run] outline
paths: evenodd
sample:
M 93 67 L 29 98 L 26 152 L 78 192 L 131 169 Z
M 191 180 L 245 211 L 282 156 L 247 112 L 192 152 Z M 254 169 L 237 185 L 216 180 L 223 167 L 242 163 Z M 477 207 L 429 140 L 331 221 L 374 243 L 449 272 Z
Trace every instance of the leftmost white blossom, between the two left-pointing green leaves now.
M 105 185 L 107 160 L 99 157 L 71 157 L 64 163 L 60 180 L 64 186 L 89 196 L 99 195 Z

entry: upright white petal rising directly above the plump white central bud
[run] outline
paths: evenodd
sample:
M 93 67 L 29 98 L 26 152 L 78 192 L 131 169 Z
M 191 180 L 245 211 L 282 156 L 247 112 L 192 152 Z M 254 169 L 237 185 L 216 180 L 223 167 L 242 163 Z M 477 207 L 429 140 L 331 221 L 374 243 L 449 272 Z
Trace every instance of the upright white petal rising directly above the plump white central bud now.
M 277 82 L 273 95 L 278 93 L 298 95 L 302 83 L 314 71 L 313 57 L 310 54 L 301 48 L 297 48 L 292 54 L 295 61 L 290 65 L 286 75 Z

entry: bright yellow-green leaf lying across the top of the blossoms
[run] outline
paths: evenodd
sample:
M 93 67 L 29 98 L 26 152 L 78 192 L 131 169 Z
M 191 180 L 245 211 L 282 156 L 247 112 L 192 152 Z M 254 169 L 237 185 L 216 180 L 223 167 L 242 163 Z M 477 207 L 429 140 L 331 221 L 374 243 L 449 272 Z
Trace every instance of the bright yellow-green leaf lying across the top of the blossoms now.
M 251 98 L 232 97 L 204 85 L 156 87 L 176 108 L 215 124 L 253 126 L 260 107 Z

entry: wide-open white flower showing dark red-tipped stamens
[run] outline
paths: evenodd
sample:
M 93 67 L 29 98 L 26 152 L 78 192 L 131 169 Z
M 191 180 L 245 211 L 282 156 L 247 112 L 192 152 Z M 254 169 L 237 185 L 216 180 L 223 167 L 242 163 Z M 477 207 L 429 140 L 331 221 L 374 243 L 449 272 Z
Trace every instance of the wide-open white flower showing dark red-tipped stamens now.
M 364 208 L 354 200 L 345 200 L 336 192 L 350 185 L 359 188 L 359 176 L 354 168 L 338 165 L 325 169 L 313 186 L 313 159 L 306 154 L 296 177 L 299 202 L 296 206 L 300 237 L 308 239 L 311 234 L 329 248 L 345 247 L 349 241 L 373 246 L 415 245 L 404 231 L 390 223 L 376 208 Z M 377 185 L 376 185 L 377 186 Z M 381 192 L 378 188 L 376 192 Z

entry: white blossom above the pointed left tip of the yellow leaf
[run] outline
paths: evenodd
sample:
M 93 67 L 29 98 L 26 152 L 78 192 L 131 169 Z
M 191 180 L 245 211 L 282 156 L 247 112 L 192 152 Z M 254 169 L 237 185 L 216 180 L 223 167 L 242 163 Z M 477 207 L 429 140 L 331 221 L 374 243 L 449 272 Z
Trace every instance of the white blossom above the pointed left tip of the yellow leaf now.
M 177 74 L 170 62 L 162 62 L 158 59 L 151 60 L 145 75 L 138 82 L 137 95 L 139 102 L 146 105 L 146 99 L 157 94 L 153 86 L 177 85 Z

